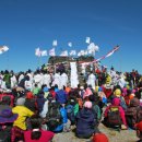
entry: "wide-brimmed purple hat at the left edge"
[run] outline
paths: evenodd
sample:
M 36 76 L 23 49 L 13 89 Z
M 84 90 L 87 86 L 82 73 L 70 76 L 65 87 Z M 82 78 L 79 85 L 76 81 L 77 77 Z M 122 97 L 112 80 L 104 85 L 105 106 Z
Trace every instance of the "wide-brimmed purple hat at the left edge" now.
M 13 114 L 11 108 L 0 111 L 0 123 L 13 122 L 16 118 L 17 114 Z

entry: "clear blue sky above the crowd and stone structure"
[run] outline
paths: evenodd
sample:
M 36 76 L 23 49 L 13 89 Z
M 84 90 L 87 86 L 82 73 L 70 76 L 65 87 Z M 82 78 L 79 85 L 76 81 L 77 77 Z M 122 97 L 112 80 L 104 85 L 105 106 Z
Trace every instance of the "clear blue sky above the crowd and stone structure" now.
M 49 50 L 57 39 L 57 55 L 61 49 L 79 51 L 86 49 L 90 36 L 99 46 L 95 58 L 120 46 L 103 64 L 142 73 L 141 7 L 142 0 L 0 0 L 0 45 L 10 48 L 0 55 L 0 70 L 35 70 L 35 48 Z

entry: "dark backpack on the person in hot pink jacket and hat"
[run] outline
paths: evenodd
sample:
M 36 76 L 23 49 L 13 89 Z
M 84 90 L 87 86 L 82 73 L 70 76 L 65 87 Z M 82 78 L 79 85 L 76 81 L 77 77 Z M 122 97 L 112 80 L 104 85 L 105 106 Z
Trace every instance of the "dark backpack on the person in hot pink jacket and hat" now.
M 110 106 L 109 107 L 107 122 L 110 127 L 116 127 L 116 126 L 121 125 L 119 106 Z

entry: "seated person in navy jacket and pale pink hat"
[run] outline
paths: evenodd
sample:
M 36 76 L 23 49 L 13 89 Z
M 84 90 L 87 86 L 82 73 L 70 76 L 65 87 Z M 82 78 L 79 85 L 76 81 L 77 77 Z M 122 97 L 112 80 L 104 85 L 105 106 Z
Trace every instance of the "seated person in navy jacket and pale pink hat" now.
M 86 100 L 84 107 L 76 115 L 75 135 L 81 139 L 90 139 L 97 129 L 95 118 L 92 103 Z

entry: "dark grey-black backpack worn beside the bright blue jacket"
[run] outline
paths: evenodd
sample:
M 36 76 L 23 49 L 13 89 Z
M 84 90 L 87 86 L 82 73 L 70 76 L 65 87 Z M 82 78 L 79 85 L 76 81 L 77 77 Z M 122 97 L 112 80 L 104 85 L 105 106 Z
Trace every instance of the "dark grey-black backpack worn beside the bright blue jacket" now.
M 48 113 L 46 115 L 47 126 L 50 131 L 54 131 L 59 125 L 62 123 L 62 116 L 58 103 L 50 103 Z

